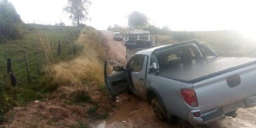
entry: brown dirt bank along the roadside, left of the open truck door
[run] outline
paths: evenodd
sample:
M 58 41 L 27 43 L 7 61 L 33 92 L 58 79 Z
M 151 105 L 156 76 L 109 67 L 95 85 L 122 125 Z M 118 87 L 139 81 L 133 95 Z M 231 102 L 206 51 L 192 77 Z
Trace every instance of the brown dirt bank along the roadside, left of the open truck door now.
M 112 111 L 108 94 L 96 88 L 61 86 L 49 98 L 51 100 L 35 100 L 26 107 L 14 108 L 8 113 L 10 123 L 0 127 L 72 127 L 79 122 L 93 125 L 102 118 L 100 113 Z

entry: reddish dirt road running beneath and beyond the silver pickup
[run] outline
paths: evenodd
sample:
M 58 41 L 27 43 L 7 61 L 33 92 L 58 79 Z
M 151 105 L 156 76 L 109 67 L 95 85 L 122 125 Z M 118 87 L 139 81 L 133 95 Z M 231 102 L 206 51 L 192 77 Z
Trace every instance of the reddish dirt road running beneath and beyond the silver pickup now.
M 106 45 L 109 46 L 109 50 L 112 55 L 117 58 L 124 58 L 125 47 L 124 42 L 113 41 L 113 35 L 111 31 L 101 31 L 106 36 Z M 115 56 L 114 56 L 115 57 Z M 107 119 L 97 124 L 97 128 L 114 128 L 114 127 L 194 127 L 188 122 L 180 121 L 175 125 L 164 124 L 157 120 L 154 116 L 153 110 L 147 102 L 134 96 L 123 94 L 116 101 L 118 109 Z M 237 118 L 226 117 L 223 120 L 204 125 L 202 127 L 256 127 L 256 108 L 239 109 L 237 111 Z

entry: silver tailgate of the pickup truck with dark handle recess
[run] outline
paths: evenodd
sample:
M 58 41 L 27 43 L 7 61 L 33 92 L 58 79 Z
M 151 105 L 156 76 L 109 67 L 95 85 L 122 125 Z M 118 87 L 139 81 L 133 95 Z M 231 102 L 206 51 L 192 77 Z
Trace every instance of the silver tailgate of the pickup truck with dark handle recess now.
M 256 64 L 193 83 L 202 113 L 256 95 Z

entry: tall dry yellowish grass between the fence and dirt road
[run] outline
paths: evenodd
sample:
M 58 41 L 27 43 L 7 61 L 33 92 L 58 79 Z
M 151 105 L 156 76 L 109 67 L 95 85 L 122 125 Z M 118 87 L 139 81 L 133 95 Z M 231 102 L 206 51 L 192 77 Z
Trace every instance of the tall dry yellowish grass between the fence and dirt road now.
M 62 61 L 49 68 L 52 84 L 104 84 L 103 61 L 106 51 L 102 46 L 98 32 L 87 28 L 81 32 L 76 44 L 83 47 L 83 51 L 71 61 Z

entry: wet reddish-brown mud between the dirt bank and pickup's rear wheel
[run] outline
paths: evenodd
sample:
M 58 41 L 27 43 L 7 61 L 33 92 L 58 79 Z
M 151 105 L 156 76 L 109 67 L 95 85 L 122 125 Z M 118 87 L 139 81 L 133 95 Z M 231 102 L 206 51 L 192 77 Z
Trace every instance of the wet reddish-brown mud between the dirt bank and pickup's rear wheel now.
M 124 94 L 116 101 L 117 109 L 107 120 L 97 124 L 95 128 L 130 128 L 130 127 L 193 127 L 188 123 L 168 125 L 159 121 L 150 104 L 136 95 Z

